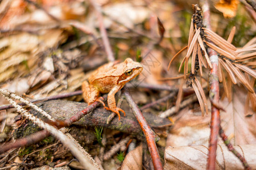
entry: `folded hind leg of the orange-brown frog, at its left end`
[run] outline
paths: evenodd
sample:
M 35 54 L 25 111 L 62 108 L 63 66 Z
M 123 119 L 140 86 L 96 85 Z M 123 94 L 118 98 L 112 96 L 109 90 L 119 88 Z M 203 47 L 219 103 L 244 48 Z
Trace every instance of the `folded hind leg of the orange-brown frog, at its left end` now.
M 82 82 L 82 97 L 86 103 L 90 105 L 95 101 L 99 101 L 105 107 L 105 103 L 101 100 L 102 97 L 98 97 L 99 95 L 100 92 L 97 88 L 89 84 L 87 81 Z

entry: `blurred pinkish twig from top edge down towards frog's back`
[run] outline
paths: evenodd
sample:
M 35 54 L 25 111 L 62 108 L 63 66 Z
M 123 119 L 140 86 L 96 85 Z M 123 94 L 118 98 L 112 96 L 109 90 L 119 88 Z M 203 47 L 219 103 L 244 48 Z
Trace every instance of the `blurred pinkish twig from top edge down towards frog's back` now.
M 101 7 L 100 7 L 100 5 L 97 4 L 96 1 L 90 0 L 90 3 L 92 3 L 93 7 L 96 10 L 96 14 L 98 16 L 98 22 L 100 23 L 101 37 L 102 37 L 102 40 L 103 40 L 103 43 L 104 43 L 106 54 L 108 56 L 108 60 L 113 62 L 113 61 L 115 61 L 115 58 L 114 58 L 114 54 L 112 52 L 112 49 L 111 49 L 111 46 L 110 46 L 110 43 L 109 43 L 109 38 L 108 38 L 108 35 L 106 33 L 106 29 L 104 27 L 104 21 L 103 21 L 103 16 L 102 16 L 102 13 L 101 13 Z

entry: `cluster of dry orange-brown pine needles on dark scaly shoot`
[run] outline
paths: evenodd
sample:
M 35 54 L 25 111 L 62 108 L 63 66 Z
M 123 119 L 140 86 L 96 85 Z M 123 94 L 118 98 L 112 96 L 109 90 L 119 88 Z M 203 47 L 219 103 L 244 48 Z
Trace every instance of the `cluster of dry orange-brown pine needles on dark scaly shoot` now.
M 195 14 L 191 19 L 188 46 L 181 49 L 171 59 L 168 69 L 171 66 L 171 62 L 187 49 L 187 54 L 180 64 L 179 72 L 184 64 L 184 78 L 187 78 L 187 87 L 192 86 L 195 90 L 201 112 L 204 115 L 205 112 L 208 113 L 207 97 L 205 97 L 203 87 L 196 75 L 199 72 L 200 77 L 203 76 L 203 67 L 212 69 L 212 63 L 207 53 L 207 49 L 211 48 L 218 54 L 218 80 L 222 82 L 228 100 L 232 100 L 232 85 L 237 84 L 238 79 L 248 91 L 245 110 L 251 105 L 253 111 L 256 111 L 256 95 L 253 89 L 256 79 L 256 37 L 247 42 L 242 48 L 236 48 L 231 44 L 236 27 L 232 28 L 228 40 L 225 40 L 217 33 L 204 27 L 203 17 L 198 6 L 194 7 L 194 11 Z M 188 60 L 191 56 L 191 73 L 188 73 Z

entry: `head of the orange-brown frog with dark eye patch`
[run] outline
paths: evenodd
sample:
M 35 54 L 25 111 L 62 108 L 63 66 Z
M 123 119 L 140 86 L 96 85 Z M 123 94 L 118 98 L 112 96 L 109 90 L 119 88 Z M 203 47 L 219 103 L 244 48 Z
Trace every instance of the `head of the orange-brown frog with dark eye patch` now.
M 125 84 L 134 79 L 141 71 L 143 66 L 139 62 L 134 62 L 133 59 L 127 58 L 123 62 L 123 74 L 119 78 L 118 84 Z

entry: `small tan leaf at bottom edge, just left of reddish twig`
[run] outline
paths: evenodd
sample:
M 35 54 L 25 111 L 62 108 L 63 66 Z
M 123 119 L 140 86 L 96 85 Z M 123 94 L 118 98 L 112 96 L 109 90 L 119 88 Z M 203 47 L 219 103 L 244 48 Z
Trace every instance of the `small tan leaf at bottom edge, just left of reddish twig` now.
M 142 145 L 136 147 L 134 150 L 130 151 L 123 160 L 121 170 L 137 170 L 142 169 Z

